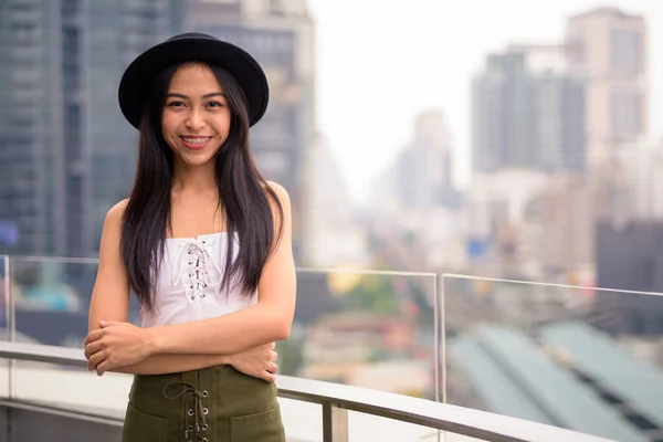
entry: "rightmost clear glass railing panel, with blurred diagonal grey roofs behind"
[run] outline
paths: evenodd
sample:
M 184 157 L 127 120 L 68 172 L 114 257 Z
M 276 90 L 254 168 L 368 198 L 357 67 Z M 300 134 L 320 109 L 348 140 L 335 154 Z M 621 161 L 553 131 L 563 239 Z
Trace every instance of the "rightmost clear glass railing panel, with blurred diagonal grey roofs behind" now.
M 663 434 L 663 296 L 445 276 L 449 403 L 620 441 Z

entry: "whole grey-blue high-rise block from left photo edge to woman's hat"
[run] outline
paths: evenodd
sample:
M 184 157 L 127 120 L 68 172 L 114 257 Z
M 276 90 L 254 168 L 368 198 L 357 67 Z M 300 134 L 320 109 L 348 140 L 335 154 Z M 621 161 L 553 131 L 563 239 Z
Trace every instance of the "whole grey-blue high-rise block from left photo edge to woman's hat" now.
M 135 172 L 117 85 L 185 0 L 0 2 L 0 253 L 95 255 Z

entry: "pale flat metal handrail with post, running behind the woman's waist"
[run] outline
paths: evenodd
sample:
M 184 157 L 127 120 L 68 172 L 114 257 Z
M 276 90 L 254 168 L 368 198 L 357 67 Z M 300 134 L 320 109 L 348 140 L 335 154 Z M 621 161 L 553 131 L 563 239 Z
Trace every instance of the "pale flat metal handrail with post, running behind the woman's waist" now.
M 0 358 L 87 367 L 81 349 L 0 343 Z M 348 440 L 347 412 L 414 423 L 491 442 L 608 442 L 541 423 L 332 382 L 278 376 L 278 396 L 323 406 L 325 442 Z M 10 398 L 10 400 L 13 398 Z

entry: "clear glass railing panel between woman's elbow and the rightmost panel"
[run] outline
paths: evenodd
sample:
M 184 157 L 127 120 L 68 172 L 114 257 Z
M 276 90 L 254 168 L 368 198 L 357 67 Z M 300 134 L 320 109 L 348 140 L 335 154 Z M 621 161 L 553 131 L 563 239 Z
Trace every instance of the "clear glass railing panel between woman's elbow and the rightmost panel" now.
M 297 272 L 297 309 L 281 372 L 435 399 L 436 277 Z

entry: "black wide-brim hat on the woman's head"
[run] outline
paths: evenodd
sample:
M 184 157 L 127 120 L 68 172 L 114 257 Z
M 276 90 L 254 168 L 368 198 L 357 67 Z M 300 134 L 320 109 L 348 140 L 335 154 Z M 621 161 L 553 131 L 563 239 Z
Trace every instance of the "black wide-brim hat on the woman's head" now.
M 183 62 L 203 62 L 228 71 L 244 92 L 249 124 L 257 123 L 270 99 L 267 78 L 257 62 L 244 50 L 202 33 L 175 35 L 138 55 L 119 82 L 119 108 L 125 118 L 140 128 L 150 83 L 164 69 Z

